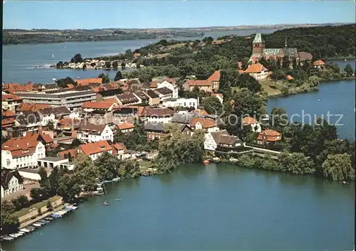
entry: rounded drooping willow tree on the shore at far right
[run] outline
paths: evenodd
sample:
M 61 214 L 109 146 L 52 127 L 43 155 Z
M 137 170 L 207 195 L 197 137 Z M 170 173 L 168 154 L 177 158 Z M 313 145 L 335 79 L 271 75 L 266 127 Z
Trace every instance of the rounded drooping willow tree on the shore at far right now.
M 324 161 L 323 176 L 337 181 L 355 180 L 355 169 L 352 169 L 350 155 L 330 154 Z

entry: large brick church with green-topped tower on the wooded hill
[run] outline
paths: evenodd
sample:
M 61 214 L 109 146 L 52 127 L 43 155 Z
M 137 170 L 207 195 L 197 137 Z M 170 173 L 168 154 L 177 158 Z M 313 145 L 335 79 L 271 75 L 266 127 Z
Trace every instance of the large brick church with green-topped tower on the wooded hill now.
M 266 60 L 280 60 L 281 63 L 285 58 L 288 58 L 290 62 L 293 62 L 294 59 L 299 62 L 298 49 L 288 48 L 287 38 L 284 48 L 266 48 L 266 43 L 263 41 L 261 33 L 257 33 L 252 42 L 252 55 L 248 62 L 256 63 L 260 58 Z

